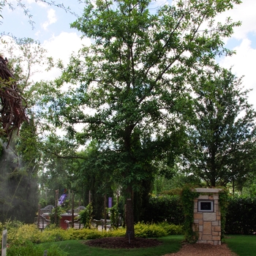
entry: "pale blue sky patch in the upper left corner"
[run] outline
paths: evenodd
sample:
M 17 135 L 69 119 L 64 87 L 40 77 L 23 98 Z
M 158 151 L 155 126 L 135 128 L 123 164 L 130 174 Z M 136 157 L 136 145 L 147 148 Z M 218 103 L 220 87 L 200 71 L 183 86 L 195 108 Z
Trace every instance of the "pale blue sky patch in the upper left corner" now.
M 82 14 L 83 6 L 78 1 L 63 0 L 64 7 L 70 7 L 70 12 L 65 12 L 62 8 L 50 6 L 35 0 L 22 0 L 26 5 L 26 10 L 32 15 L 31 20 L 34 21 L 34 29 L 29 24 L 29 18 L 24 15 L 23 8 L 19 7 L 17 0 L 8 0 L 12 2 L 15 10 L 11 10 L 8 6 L 2 10 L 3 19 L 1 31 L 10 32 L 15 37 L 31 37 L 38 39 L 40 42 L 50 39 L 50 37 L 59 35 L 62 31 L 69 33 L 75 29 L 70 29 L 69 24 L 75 21 L 75 15 L 70 12 Z M 57 1 L 58 3 L 58 1 Z

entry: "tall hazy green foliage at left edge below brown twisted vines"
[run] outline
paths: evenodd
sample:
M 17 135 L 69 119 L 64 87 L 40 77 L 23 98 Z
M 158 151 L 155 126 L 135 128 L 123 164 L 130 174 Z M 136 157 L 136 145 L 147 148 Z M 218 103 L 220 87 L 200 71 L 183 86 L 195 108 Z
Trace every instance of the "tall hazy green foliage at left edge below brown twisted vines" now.
M 29 135 L 27 140 L 12 143 L 10 148 L 5 148 L 0 156 L 0 221 L 18 219 L 22 222 L 33 223 L 39 200 L 38 194 L 38 151 L 34 144 L 34 126 L 23 124 L 20 136 Z M 12 148 L 15 148 L 13 150 Z M 33 154 L 31 154 L 31 150 Z

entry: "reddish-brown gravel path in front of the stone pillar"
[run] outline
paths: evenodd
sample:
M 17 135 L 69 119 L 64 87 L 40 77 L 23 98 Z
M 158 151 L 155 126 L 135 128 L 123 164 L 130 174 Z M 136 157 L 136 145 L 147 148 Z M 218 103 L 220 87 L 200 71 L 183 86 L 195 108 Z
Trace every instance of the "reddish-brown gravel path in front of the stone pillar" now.
M 238 256 L 231 252 L 227 244 L 184 244 L 181 250 L 176 253 L 163 256 Z

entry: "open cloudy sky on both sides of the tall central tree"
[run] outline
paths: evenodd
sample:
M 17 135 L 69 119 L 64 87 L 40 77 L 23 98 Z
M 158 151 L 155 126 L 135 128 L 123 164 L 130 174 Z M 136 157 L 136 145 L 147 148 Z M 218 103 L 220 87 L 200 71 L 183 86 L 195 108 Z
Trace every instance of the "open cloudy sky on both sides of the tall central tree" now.
M 33 15 L 34 29 L 29 24 L 29 19 L 24 15 L 23 9 L 17 7 L 17 0 L 9 0 L 15 10 L 4 7 L 1 15 L 1 32 L 9 32 L 15 37 L 31 37 L 42 43 L 48 50 L 50 56 L 56 59 L 68 61 L 72 51 L 77 51 L 82 43 L 89 44 L 89 39 L 80 40 L 80 33 L 70 29 L 69 24 L 75 21 L 75 15 L 65 12 L 61 8 L 49 6 L 35 0 L 21 0 L 26 9 Z M 76 0 L 56 0 L 63 3 L 65 7 L 81 15 L 83 5 Z M 157 0 L 157 4 L 165 3 L 165 0 Z M 154 6 L 152 10 L 154 10 Z M 219 63 L 222 67 L 233 67 L 233 72 L 241 77 L 244 75 L 243 85 L 246 89 L 255 89 L 249 94 L 249 102 L 256 108 L 256 0 L 244 0 L 242 4 L 235 6 L 233 10 L 220 15 L 218 19 L 223 20 L 230 16 L 234 21 L 241 20 L 242 26 L 235 29 L 233 37 L 225 40 L 225 47 L 236 50 L 236 55 L 222 58 Z M 56 74 L 52 74 L 56 75 Z

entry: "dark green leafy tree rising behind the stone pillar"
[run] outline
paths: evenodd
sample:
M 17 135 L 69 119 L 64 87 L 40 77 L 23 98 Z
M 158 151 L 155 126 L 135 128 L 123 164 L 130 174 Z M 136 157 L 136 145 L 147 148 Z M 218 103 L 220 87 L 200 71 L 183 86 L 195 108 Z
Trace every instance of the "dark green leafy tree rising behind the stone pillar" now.
M 242 186 L 255 172 L 255 110 L 230 70 L 193 81 L 195 116 L 184 162 L 208 186 Z

